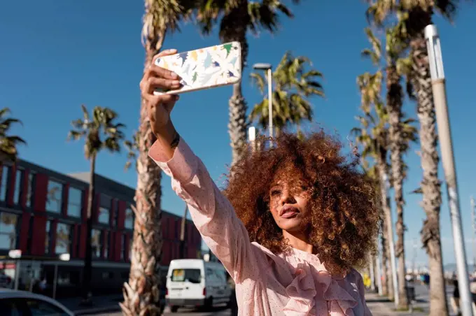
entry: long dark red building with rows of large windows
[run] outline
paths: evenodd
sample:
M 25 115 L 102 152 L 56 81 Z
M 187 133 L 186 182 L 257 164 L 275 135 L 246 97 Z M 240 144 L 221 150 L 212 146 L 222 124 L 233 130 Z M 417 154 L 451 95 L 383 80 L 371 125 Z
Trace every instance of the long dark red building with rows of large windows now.
M 22 266 L 15 280 L 21 288 L 43 275 L 53 282 L 59 266 L 57 285 L 80 287 L 89 173 L 66 175 L 22 160 L 0 172 L 0 268 L 11 274 L 12 265 L 15 271 Z M 120 290 L 130 268 L 135 191 L 101 175 L 94 182 L 92 280 L 102 292 L 108 283 Z M 162 266 L 179 257 L 180 227 L 181 217 L 162 213 Z M 191 221 L 186 232 L 186 257 L 196 258 L 200 234 Z M 20 264 L 10 260 L 10 250 L 21 250 Z M 69 261 L 59 261 L 62 254 L 69 254 Z

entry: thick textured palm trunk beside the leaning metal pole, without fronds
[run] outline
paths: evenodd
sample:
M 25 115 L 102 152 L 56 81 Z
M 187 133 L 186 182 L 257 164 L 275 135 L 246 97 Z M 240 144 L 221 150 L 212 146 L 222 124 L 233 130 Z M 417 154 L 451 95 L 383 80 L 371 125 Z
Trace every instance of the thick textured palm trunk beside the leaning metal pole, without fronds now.
M 431 24 L 430 13 L 420 13 L 423 24 Z M 413 62 L 413 85 L 418 101 L 417 113 L 420 122 L 419 137 L 421 143 L 421 168 L 423 180 L 421 203 L 426 213 L 426 220 L 421 230 L 421 241 L 428 253 L 430 266 L 430 316 L 447 316 L 447 298 L 444 291 L 444 271 L 440 241 L 440 206 L 441 189 L 438 179 L 438 152 L 435 110 L 431 87 L 428 52 L 423 29 L 413 34 L 410 42 Z

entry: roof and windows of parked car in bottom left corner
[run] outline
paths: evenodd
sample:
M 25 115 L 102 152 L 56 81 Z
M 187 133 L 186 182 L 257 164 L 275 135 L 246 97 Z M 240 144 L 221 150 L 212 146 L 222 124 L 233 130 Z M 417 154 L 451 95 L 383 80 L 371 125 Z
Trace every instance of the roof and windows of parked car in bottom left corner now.
M 74 316 L 54 299 L 14 289 L 0 289 L 0 312 L 0 315 Z

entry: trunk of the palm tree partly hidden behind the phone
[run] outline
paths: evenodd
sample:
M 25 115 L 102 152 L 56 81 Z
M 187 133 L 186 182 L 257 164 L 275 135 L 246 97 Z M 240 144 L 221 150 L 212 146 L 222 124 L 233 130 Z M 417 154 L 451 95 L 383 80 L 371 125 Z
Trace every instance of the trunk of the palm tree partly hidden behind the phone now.
M 248 27 L 248 1 L 239 0 L 236 8 L 225 14 L 221 24 L 228 25 L 221 37 L 224 43 L 238 41 L 241 44 L 241 73 L 244 72 L 248 57 L 248 41 L 246 29 Z M 241 91 L 241 81 L 233 85 L 233 94 L 228 102 L 229 122 L 228 134 L 232 147 L 232 166 L 239 160 L 246 150 L 246 101 Z

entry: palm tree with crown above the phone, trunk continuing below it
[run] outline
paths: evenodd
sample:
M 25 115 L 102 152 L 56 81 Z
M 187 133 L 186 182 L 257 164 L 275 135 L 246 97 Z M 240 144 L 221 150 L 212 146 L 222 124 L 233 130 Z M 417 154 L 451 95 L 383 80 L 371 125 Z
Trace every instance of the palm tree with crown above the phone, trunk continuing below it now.
M 271 33 L 279 27 L 279 13 L 293 17 L 290 10 L 279 0 L 199 0 L 197 20 L 202 32 L 209 34 L 221 17 L 219 36 L 223 43 L 238 41 L 241 44 L 241 69 L 246 66 L 248 41 L 246 34 L 251 31 L 258 35 L 260 29 Z M 293 0 L 299 3 L 299 0 Z M 232 165 L 241 157 L 246 144 L 246 101 L 241 92 L 241 82 L 233 85 L 229 101 L 230 118 L 228 133 L 232 147 Z

